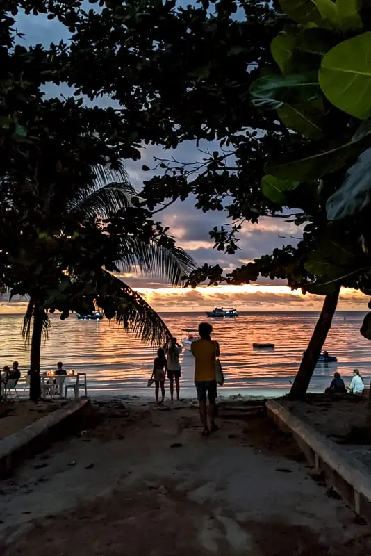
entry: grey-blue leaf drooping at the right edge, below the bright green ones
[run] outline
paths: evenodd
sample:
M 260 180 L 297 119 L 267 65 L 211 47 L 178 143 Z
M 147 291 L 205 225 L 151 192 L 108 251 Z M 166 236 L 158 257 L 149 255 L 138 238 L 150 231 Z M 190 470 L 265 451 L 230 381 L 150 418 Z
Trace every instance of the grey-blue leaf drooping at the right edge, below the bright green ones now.
M 343 185 L 327 199 L 327 218 L 340 220 L 358 214 L 370 203 L 370 194 L 371 149 L 367 149 L 349 168 Z

